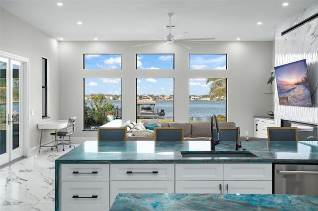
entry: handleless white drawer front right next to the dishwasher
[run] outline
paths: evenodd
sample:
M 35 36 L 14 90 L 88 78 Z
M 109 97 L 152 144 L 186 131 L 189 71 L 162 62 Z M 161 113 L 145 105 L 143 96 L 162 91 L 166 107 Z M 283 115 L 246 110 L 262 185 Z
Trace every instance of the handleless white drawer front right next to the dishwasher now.
M 272 180 L 271 163 L 225 163 L 224 180 Z

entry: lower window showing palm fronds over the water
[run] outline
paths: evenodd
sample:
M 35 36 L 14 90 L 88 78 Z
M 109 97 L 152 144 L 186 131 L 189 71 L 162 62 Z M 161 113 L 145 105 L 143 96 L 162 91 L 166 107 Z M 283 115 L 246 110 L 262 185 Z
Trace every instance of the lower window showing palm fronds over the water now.
M 210 121 L 213 114 L 226 121 L 226 105 L 226 78 L 189 79 L 189 122 Z

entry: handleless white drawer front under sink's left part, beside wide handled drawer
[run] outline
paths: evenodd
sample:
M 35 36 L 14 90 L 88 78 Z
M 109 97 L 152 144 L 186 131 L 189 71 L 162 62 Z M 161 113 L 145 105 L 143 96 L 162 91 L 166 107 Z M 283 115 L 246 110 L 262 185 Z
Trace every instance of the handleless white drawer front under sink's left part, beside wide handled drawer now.
M 175 180 L 223 180 L 223 164 L 175 164 Z

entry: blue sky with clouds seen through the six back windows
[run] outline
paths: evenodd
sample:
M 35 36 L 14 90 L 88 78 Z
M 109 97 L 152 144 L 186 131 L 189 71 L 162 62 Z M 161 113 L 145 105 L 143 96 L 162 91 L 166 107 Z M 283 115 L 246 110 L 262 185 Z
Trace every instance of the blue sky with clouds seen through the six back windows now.
M 226 69 L 226 54 L 190 54 L 190 69 Z M 172 69 L 174 54 L 137 54 L 137 69 Z M 85 54 L 84 69 L 121 69 L 121 54 Z M 173 95 L 173 78 L 137 78 L 137 95 Z M 120 78 L 85 78 L 85 95 L 121 94 Z M 189 79 L 189 95 L 208 95 L 206 78 Z

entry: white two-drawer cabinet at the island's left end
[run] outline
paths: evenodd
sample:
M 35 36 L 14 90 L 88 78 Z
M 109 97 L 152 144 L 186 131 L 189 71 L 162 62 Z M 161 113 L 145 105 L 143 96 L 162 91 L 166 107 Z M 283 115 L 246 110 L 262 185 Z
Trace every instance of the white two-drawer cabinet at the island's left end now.
M 109 164 L 61 164 L 61 211 L 109 209 Z

